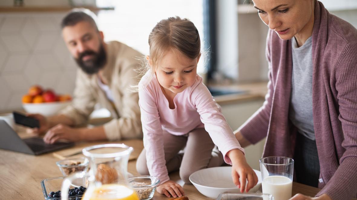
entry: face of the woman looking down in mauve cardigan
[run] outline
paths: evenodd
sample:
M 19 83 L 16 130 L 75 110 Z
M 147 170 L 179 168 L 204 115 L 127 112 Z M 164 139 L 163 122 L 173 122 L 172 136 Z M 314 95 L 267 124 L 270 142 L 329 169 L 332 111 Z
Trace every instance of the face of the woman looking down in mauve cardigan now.
M 296 34 L 311 34 L 313 0 L 252 0 L 260 19 L 281 39 L 291 39 Z M 313 24 L 312 24 L 313 26 Z M 311 28 L 311 30 L 307 30 Z

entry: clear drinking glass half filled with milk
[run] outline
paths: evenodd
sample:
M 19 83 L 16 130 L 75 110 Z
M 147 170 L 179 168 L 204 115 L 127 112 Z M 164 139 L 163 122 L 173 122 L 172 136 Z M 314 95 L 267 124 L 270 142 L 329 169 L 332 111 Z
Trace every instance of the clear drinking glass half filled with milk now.
M 290 199 L 294 160 L 288 157 L 270 156 L 261 158 L 259 162 L 263 193 L 273 195 L 274 200 Z

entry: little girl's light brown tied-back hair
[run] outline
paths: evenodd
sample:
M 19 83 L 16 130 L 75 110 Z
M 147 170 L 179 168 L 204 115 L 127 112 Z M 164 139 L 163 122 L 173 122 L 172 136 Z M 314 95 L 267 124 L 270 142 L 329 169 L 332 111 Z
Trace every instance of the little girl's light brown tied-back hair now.
M 149 35 L 150 69 L 155 73 L 157 64 L 166 52 L 178 51 L 188 58 L 195 59 L 201 52 L 200 34 L 188 19 L 170 17 L 156 24 Z

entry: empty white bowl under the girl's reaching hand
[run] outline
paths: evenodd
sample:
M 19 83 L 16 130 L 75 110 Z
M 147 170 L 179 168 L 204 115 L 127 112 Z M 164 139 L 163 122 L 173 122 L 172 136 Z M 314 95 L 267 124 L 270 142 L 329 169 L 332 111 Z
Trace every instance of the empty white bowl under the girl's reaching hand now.
M 258 183 L 249 192 L 257 192 L 262 182 L 260 171 L 254 172 L 258 176 Z M 222 192 L 240 192 L 233 183 L 232 167 L 229 166 L 198 170 L 191 174 L 190 181 L 201 194 L 213 199 L 217 199 Z

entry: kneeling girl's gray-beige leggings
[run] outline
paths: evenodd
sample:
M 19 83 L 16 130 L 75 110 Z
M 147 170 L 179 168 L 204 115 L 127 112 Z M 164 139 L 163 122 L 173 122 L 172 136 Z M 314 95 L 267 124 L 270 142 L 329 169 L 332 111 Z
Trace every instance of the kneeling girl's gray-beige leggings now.
M 204 128 L 197 128 L 183 136 L 164 131 L 163 139 L 167 171 L 170 173 L 180 169 L 180 178 L 187 184 L 191 184 L 188 177 L 193 172 L 218 167 L 224 162 L 222 153 L 215 147 Z M 184 153 L 179 153 L 184 147 Z M 145 148 L 137 158 L 136 170 L 141 175 L 149 175 Z

